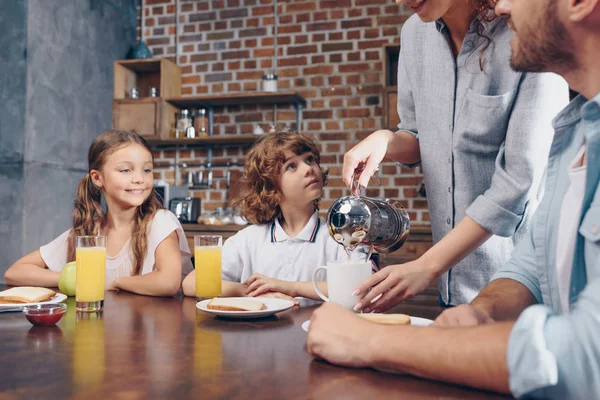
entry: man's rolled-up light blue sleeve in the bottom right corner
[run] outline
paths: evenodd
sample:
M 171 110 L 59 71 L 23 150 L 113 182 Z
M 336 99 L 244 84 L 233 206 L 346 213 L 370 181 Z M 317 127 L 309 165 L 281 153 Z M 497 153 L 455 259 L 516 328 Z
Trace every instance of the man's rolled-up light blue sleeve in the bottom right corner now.
M 600 279 L 581 293 L 569 315 L 546 306 L 526 309 L 508 342 L 515 397 L 600 398 Z

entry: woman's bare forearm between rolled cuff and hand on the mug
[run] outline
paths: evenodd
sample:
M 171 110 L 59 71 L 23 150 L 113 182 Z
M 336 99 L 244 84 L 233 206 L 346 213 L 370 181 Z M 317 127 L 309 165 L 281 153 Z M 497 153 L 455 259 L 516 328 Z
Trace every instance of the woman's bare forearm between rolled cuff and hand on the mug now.
M 471 218 L 465 217 L 450 233 L 423 254 L 421 260 L 432 268 L 436 277 L 439 277 L 491 236 L 491 232 Z

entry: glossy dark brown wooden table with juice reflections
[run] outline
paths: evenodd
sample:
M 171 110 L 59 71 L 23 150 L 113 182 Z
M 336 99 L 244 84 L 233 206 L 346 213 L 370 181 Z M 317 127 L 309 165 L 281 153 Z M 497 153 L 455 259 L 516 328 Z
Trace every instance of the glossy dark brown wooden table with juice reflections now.
M 74 299 L 67 302 L 67 314 L 52 328 L 0 313 L 1 399 L 502 398 L 315 361 L 300 326 L 314 307 L 234 321 L 196 310 L 190 298 L 108 292 L 103 314 L 80 318 Z M 419 306 L 397 311 L 439 313 Z

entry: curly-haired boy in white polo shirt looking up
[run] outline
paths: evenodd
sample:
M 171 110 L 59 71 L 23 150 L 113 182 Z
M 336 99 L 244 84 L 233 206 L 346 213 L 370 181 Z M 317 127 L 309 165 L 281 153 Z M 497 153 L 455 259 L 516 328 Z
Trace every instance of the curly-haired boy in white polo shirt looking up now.
M 244 192 L 237 203 L 253 225 L 223 245 L 223 296 L 276 296 L 319 299 L 313 271 L 348 258 L 318 216 L 327 183 L 314 139 L 296 132 L 262 137 L 248 153 Z M 357 250 L 353 261 L 365 261 Z M 327 293 L 324 277 L 319 288 Z M 183 282 L 195 295 L 195 271 Z

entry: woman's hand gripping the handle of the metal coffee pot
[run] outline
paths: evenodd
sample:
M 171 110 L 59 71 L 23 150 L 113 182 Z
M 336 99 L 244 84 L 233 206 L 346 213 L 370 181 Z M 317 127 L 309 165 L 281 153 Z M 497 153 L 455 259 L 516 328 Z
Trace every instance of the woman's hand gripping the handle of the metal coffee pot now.
M 360 165 L 364 165 L 364 170 L 360 174 L 358 185 L 360 187 L 367 187 L 369 179 L 371 179 L 371 176 L 377 171 L 379 163 L 385 157 L 388 143 L 393 136 L 394 133 L 392 131 L 385 129 L 373 132 L 366 139 L 344 154 L 342 181 L 346 186 L 351 187 L 354 171 Z

